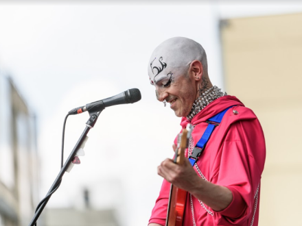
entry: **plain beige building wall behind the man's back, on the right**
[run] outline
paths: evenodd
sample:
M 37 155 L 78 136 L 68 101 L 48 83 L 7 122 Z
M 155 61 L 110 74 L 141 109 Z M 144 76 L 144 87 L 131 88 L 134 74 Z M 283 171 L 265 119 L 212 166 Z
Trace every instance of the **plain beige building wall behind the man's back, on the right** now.
M 266 138 L 259 225 L 302 225 L 302 13 L 221 22 L 226 90 Z

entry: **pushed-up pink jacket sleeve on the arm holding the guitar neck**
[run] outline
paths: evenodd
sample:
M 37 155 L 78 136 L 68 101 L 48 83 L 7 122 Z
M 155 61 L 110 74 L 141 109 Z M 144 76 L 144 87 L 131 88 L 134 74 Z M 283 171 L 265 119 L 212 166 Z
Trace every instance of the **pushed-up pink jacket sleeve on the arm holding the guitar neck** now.
M 227 208 L 214 213 L 215 221 L 217 225 L 222 221 L 231 225 L 239 225 L 248 218 L 251 221 L 266 155 L 264 134 L 257 118 L 233 123 L 218 155 L 213 180 L 229 188 L 233 200 Z

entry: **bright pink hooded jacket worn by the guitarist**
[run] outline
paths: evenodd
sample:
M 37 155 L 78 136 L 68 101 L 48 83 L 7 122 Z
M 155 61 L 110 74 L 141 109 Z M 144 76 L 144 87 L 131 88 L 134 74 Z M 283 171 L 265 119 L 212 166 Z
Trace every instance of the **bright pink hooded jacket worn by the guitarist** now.
M 236 97 L 220 97 L 192 118 L 191 124 L 195 126 L 192 137 L 196 145 L 208 125 L 205 121 L 230 106 L 234 107 L 224 114 L 197 164 L 208 181 L 231 190 L 233 201 L 226 209 L 215 212 L 207 205 L 202 207 L 198 199 L 192 196 L 198 226 L 258 225 L 260 179 L 266 147 L 262 127 L 253 111 L 245 108 Z M 239 114 L 233 114 L 233 110 Z M 183 128 L 187 123 L 189 121 L 182 118 Z M 164 179 L 149 223 L 165 225 L 169 192 L 170 183 Z M 193 225 L 192 218 L 188 194 L 183 225 Z

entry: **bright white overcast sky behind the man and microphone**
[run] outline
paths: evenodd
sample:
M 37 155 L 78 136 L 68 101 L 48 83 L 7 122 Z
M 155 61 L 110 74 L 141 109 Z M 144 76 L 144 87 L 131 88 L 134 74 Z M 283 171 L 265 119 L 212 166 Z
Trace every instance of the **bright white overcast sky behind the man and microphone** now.
M 294 12 L 302 12 L 302 3 L 0 1 L 0 71 L 12 77 L 38 118 L 40 198 L 60 170 L 67 112 L 139 88 L 141 101 L 100 114 L 81 164 L 65 174 L 47 207 L 83 208 L 77 197 L 88 188 L 94 208 L 116 208 L 122 225 L 147 225 L 162 181 L 156 167 L 172 157 L 181 129 L 180 118 L 156 101 L 149 83 L 153 49 L 174 36 L 200 42 L 211 81 L 224 90 L 219 20 Z M 88 118 L 69 116 L 65 160 Z

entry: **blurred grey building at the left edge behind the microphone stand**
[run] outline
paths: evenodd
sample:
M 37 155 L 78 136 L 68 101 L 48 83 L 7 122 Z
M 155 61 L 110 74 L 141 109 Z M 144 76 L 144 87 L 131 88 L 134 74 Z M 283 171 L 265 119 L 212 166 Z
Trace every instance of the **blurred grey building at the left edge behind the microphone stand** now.
M 0 71 L 0 225 L 28 225 L 38 204 L 35 117 Z

